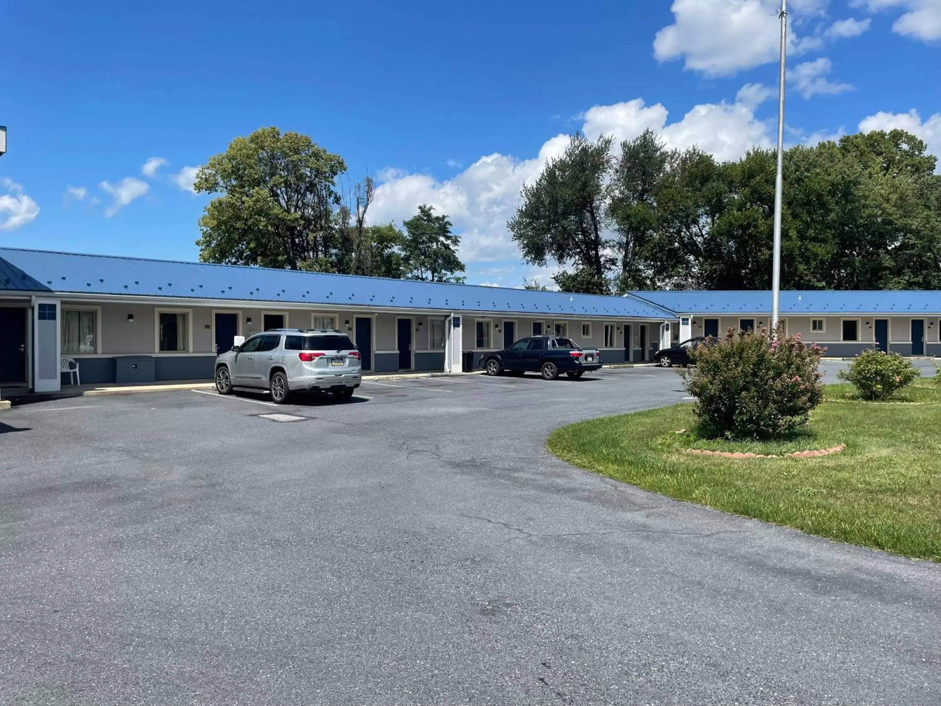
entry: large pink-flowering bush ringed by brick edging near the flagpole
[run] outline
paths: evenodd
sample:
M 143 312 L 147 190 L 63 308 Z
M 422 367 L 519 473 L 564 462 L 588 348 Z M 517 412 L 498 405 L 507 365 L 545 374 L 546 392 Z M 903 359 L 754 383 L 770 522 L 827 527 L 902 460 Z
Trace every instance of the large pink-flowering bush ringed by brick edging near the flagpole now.
M 725 338 L 696 348 L 694 367 L 679 375 L 706 433 L 774 437 L 805 425 L 821 403 L 817 368 L 824 350 L 805 345 L 800 334 L 729 329 Z

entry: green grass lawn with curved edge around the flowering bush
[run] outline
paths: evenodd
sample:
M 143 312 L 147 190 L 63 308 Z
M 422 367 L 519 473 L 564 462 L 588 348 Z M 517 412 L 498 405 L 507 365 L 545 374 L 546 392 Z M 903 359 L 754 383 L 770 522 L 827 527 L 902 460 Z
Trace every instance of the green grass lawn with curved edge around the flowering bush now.
M 941 561 L 941 387 L 917 382 L 889 404 L 830 385 L 809 428 L 774 442 L 705 440 L 692 405 L 564 426 L 549 450 L 678 500 L 839 541 Z M 681 433 L 677 433 L 680 431 Z M 817 458 L 696 457 L 688 448 L 782 454 L 845 443 Z

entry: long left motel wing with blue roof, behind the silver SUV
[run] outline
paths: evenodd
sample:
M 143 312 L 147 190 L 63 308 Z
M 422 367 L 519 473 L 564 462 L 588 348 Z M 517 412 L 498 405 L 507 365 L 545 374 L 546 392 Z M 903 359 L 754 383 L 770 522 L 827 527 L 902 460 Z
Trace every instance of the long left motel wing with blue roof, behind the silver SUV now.
M 238 337 L 286 328 L 342 330 L 375 373 L 466 372 L 541 333 L 650 361 L 675 319 L 636 297 L 0 248 L 0 394 L 210 380 Z

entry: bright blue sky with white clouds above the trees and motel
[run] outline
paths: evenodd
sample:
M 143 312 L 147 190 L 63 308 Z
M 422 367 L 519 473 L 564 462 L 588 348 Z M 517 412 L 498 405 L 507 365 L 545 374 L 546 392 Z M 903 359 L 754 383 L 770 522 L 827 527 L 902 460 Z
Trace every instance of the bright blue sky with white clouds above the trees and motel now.
M 941 0 L 790 5 L 790 143 L 898 126 L 941 152 Z M 553 270 L 505 220 L 567 134 L 774 140 L 774 0 L 0 0 L 0 27 L 5 246 L 195 260 L 193 170 L 277 125 L 377 175 L 374 221 L 431 203 L 470 282 L 516 286 Z

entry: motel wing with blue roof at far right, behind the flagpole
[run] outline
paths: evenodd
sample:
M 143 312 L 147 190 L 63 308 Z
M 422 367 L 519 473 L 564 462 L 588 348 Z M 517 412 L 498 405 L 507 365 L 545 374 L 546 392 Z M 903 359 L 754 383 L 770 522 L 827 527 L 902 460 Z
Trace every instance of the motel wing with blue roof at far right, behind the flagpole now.
M 771 322 L 771 292 L 633 292 L 676 315 L 671 338 L 762 329 Z M 852 358 L 867 348 L 903 356 L 941 356 L 941 292 L 781 292 L 781 324 L 789 334 Z

